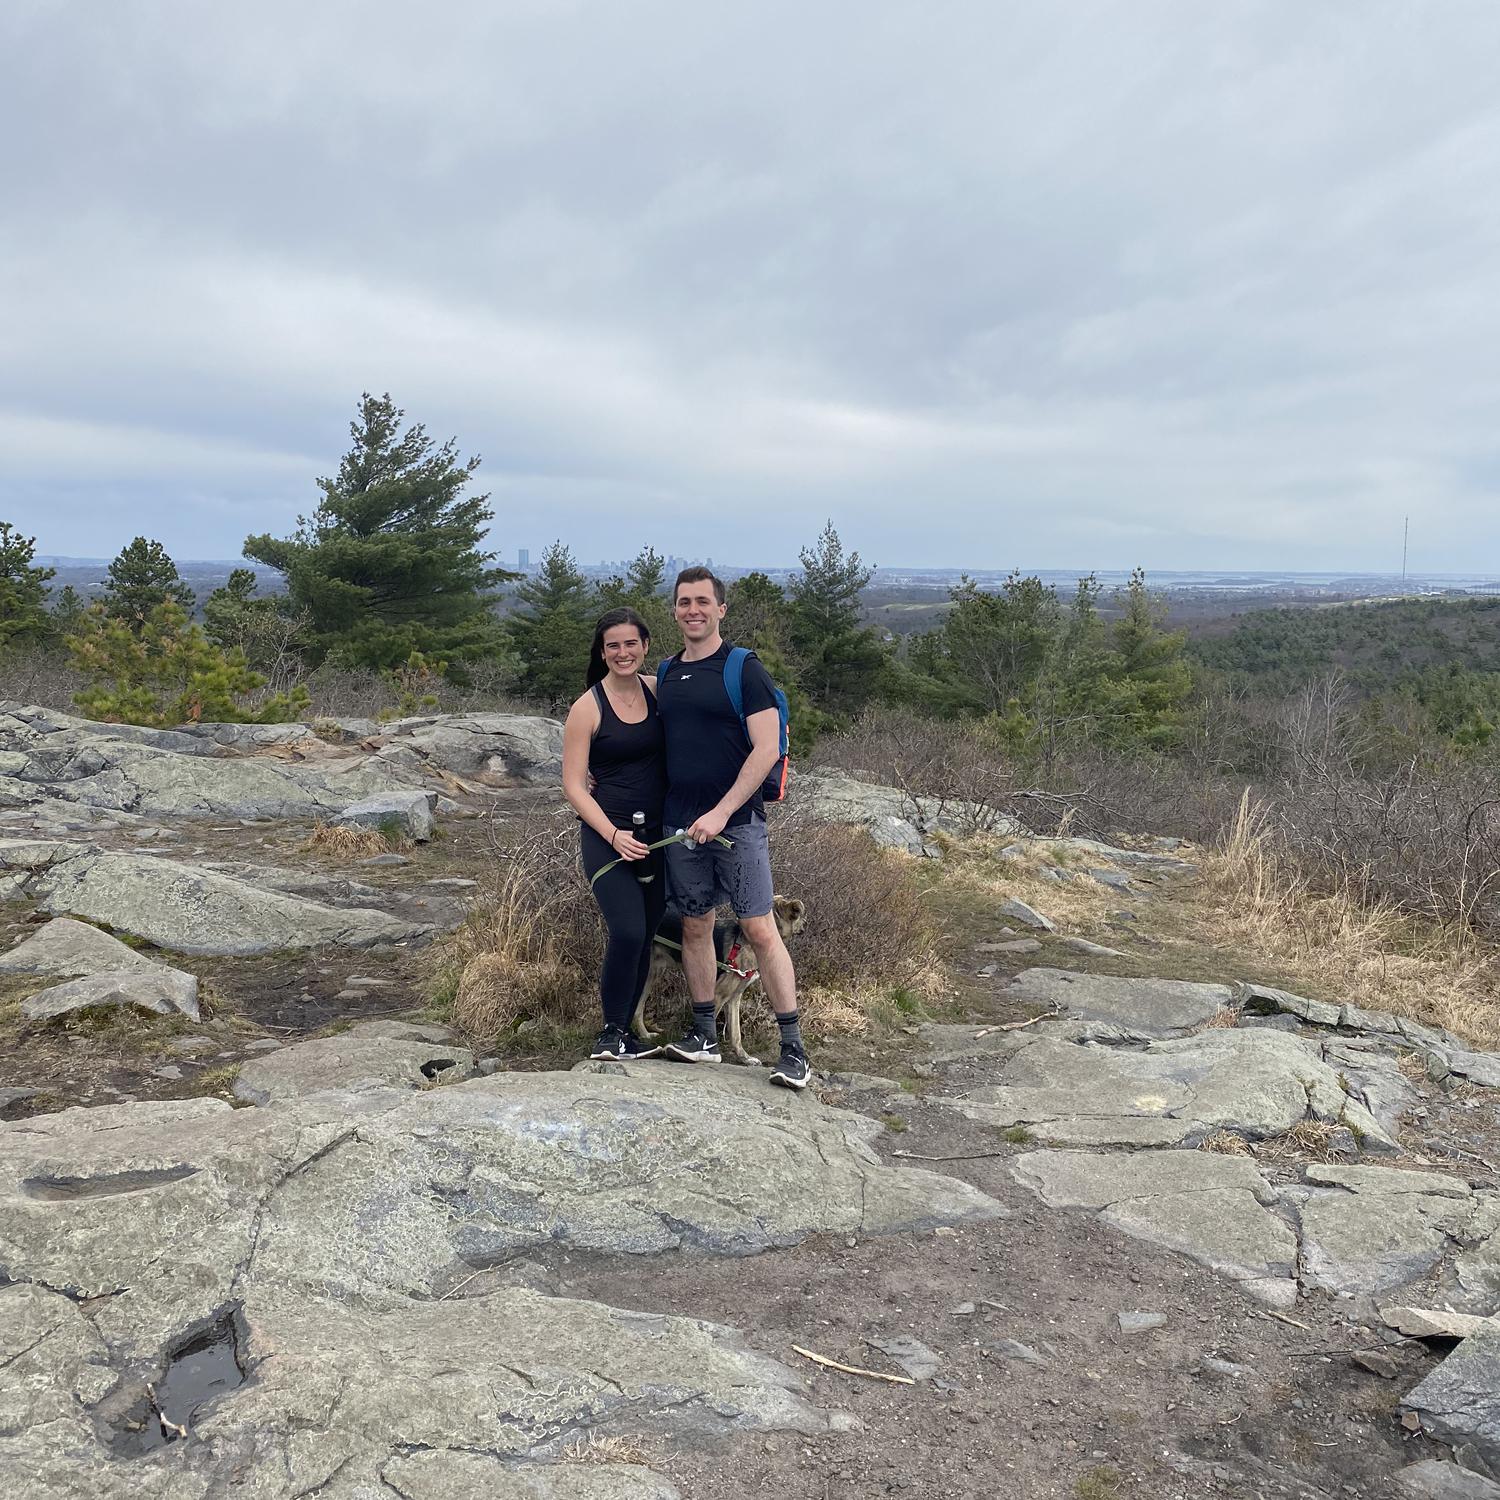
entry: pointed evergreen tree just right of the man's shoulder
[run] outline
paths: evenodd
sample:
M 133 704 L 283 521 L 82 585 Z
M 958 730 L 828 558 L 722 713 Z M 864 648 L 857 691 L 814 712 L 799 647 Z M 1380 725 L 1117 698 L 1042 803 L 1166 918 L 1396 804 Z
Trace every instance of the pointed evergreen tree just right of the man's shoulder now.
M 879 632 L 860 624 L 860 594 L 874 568 L 844 552 L 831 520 L 800 556 L 802 572 L 788 585 L 798 682 L 819 708 L 856 714 L 879 688 L 886 662 Z

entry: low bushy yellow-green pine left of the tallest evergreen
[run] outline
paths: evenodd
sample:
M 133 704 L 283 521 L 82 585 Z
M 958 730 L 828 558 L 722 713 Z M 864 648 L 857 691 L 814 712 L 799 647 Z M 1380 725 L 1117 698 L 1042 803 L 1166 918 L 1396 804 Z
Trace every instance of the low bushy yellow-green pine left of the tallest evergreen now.
M 266 686 L 238 651 L 220 651 L 180 604 L 156 604 L 144 620 L 87 612 L 68 638 L 74 666 L 92 678 L 74 702 L 108 723 L 170 728 L 186 723 L 284 723 L 308 706 L 308 690 L 254 708 L 242 699 Z

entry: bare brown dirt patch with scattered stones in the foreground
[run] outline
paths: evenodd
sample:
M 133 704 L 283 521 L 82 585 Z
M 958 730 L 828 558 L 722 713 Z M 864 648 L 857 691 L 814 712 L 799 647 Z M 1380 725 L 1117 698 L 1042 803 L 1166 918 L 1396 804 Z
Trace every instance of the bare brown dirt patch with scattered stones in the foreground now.
M 906 1128 L 885 1137 L 888 1156 L 1024 1149 L 920 1100 L 892 1107 Z M 824 1238 L 734 1263 L 560 1256 L 548 1268 L 568 1296 L 742 1328 L 798 1366 L 820 1406 L 858 1419 L 848 1434 L 652 1454 L 684 1494 L 1030 1500 L 1077 1496 L 1113 1467 L 1126 1496 L 1376 1496 L 1401 1464 L 1438 1452 L 1395 1414 L 1396 1392 L 1437 1358 L 1424 1347 L 1396 1346 L 1402 1378 L 1380 1380 L 1350 1352 L 1388 1344 L 1335 1299 L 1299 1304 L 1308 1328 L 1292 1328 L 1200 1268 L 1090 1216 L 1042 1209 L 1011 1182 L 1005 1156 L 928 1166 L 1012 1215 L 957 1234 Z M 1119 1314 L 1131 1311 L 1166 1323 L 1125 1334 Z M 900 1374 L 868 1342 L 896 1338 L 933 1350 L 938 1374 L 888 1386 L 792 1352 Z

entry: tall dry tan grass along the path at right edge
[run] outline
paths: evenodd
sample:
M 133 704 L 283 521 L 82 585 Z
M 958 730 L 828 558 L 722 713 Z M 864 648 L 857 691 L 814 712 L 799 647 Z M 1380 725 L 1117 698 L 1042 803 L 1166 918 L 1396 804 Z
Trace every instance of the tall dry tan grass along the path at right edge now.
M 1365 904 L 1348 890 L 1312 890 L 1248 795 L 1198 872 L 1190 903 L 1206 940 L 1258 954 L 1329 1000 L 1500 1046 L 1496 963 L 1472 934 Z

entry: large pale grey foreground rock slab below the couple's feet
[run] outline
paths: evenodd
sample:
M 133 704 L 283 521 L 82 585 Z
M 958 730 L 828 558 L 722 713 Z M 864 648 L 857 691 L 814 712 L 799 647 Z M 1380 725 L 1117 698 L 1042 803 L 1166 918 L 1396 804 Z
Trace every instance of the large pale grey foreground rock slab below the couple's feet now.
M 0 1126 L 0 1473 L 39 1500 L 670 1500 L 639 1468 L 555 1461 L 585 1431 L 828 1418 L 732 1329 L 484 1269 L 556 1244 L 747 1254 L 1002 1212 L 880 1166 L 878 1128 L 754 1078 L 618 1065 Z M 206 1340 L 226 1378 L 190 1413 L 194 1442 L 142 1452 L 146 1383 L 170 1389 Z

